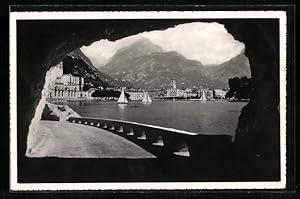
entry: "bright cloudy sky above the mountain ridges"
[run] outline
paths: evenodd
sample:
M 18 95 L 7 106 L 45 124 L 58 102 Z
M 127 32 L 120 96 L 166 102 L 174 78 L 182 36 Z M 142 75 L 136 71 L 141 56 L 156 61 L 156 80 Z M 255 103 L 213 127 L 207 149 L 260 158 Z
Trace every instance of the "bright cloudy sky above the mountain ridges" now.
M 177 51 L 188 59 L 203 65 L 221 64 L 244 50 L 245 45 L 233 38 L 223 24 L 193 22 L 180 24 L 166 30 L 143 32 L 111 42 L 99 40 L 83 46 L 82 52 L 96 67 L 107 63 L 118 49 L 140 38 L 147 38 L 165 51 Z

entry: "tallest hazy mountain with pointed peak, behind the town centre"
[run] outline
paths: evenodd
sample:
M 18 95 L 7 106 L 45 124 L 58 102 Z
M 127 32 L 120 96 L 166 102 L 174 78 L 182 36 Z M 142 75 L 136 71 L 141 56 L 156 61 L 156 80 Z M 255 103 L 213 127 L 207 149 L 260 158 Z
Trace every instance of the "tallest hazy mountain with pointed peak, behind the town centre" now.
M 161 47 L 142 38 L 119 49 L 101 71 L 117 80 L 131 82 L 134 87 L 168 88 L 171 79 L 183 87 L 195 82 L 197 85 L 212 83 L 202 75 L 202 67 L 200 62 L 188 60 L 175 51 L 164 52 Z

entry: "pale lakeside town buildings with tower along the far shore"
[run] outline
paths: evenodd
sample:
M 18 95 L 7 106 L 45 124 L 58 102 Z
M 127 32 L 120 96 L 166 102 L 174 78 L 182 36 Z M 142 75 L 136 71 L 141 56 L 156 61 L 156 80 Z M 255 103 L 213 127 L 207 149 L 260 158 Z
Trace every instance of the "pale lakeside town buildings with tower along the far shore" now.
M 63 74 L 49 86 L 47 99 L 51 100 L 118 100 L 122 87 L 93 87 L 84 90 L 85 80 L 72 74 Z M 125 93 L 129 100 L 141 101 L 143 88 L 126 88 Z M 154 100 L 168 99 L 197 99 L 203 92 L 208 100 L 225 99 L 228 89 L 185 88 L 179 89 L 176 80 L 171 80 L 170 88 L 152 88 L 147 90 Z

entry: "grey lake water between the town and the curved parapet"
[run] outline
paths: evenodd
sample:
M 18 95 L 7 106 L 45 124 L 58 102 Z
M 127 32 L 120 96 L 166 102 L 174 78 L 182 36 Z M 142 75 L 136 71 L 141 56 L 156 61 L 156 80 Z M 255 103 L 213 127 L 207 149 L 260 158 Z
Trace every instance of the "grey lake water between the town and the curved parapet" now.
M 130 101 L 118 105 L 116 101 L 68 102 L 82 117 L 126 120 L 195 133 L 213 132 L 234 134 L 238 117 L 246 102 L 216 101 L 153 101 L 145 105 Z

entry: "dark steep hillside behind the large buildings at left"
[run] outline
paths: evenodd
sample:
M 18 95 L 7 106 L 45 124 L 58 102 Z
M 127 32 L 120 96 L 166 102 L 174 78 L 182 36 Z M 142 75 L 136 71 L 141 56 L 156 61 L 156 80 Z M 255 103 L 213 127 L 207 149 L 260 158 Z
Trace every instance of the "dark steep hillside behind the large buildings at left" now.
M 63 59 L 63 68 L 65 74 L 84 77 L 86 89 L 90 88 L 91 85 L 95 87 L 131 86 L 128 82 L 115 80 L 100 72 L 80 49 L 72 51 Z

